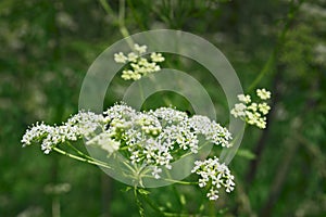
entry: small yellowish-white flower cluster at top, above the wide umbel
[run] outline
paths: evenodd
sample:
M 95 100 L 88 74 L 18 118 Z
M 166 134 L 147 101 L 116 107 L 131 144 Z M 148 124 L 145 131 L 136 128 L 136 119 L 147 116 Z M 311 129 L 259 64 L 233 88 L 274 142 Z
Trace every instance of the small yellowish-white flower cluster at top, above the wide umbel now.
M 116 63 L 130 63 L 130 69 L 124 69 L 122 78 L 125 80 L 138 80 L 141 76 L 146 76 L 150 73 L 154 73 L 161 69 L 158 63 L 163 62 L 165 59 L 162 53 L 151 53 L 150 60 L 142 58 L 146 53 L 147 46 L 134 44 L 136 52 L 130 52 L 125 55 L 123 52 L 114 54 L 114 61 Z

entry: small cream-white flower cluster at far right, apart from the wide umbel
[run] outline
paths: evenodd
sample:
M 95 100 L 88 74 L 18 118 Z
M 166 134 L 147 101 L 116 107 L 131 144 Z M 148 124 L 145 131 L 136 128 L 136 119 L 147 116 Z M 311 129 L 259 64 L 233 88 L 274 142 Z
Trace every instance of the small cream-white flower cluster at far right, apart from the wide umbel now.
M 261 101 L 265 101 L 271 98 L 271 92 L 265 89 L 258 89 L 256 95 Z M 266 128 L 266 115 L 271 106 L 266 102 L 252 102 L 251 97 L 248 94 L 239 94 L 238 99 L 240 103 L 235 104 L 235 107 L 230 111 L 231 115 L 243 119 L 249 125 L 255 125 L 261 129 Z

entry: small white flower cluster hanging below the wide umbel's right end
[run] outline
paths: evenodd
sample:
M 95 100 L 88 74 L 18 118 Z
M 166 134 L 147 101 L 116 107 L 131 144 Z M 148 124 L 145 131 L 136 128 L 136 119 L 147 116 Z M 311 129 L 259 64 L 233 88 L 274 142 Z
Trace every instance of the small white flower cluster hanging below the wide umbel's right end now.
M 218 162 L 217 157 L 195 162 L 195 167 L 191 173 L 196 173 L 200 176 L 200 188 L 209 183 L 211 184 L 209 193 L 206 194 L 210 200 L 218 199 L 218 190 L 222 187 L 224 187 L 228 193 L 235 188 L 234 176 L 224 163 L 221 164 Z

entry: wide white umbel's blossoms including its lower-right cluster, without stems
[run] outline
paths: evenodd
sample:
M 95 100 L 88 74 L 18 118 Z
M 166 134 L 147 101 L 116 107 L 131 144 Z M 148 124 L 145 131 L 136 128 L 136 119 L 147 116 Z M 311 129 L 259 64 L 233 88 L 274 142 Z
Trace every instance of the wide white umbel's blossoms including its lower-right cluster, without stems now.
M 171 163 L 180 157 L 178 152 L 198 153 L 199 136 L 215 145 L 230 146 L 230 132 L 205 116 L 188 117 L 187 113 L 172 107 L 137 112 L 126 104 L 115 104 L 103 114 L 80 111 L 61 126 L 37 123 L 26 130 L 22 143 L 23 146 L 39 143 L 48 154 L 59 144 L 85 138 L 87 145 L 98 146 L 108 154 L 127 151 L 131 164 L 152 166 L 153 178 L 160 179 L 160 167 L 171 169 Z M 208 193 L 211 200 L 218 197 L 221 187 L 227 192 L 234 188 L 233 176 L 216 157 L 197 162 L 192 173 L 201 177 L 200 187 L 212 181 Z

